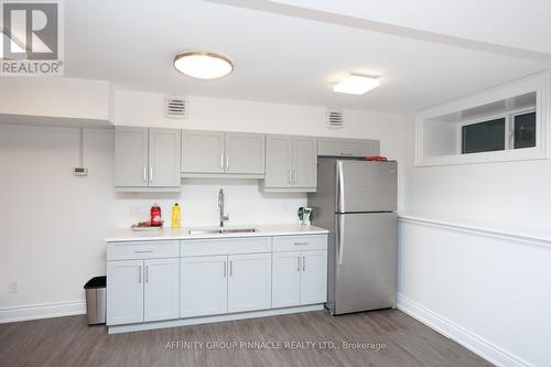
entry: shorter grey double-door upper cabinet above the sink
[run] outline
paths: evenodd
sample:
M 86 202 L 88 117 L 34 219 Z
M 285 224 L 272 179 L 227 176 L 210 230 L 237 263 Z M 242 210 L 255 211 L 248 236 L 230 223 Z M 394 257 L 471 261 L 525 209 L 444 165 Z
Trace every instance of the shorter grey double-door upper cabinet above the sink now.
M 264 175 L 264 134 L 182 131 L 182 176 Z

